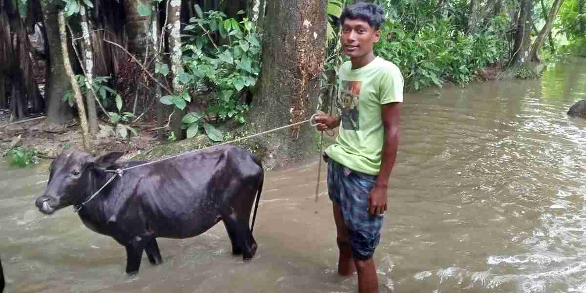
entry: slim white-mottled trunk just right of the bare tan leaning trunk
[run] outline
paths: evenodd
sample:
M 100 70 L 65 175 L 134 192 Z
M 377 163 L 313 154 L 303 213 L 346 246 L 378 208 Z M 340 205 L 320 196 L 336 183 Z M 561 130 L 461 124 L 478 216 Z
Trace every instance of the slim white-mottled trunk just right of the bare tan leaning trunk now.
M 86 66 L 86 105 L 87 105 L 87 121 L 90 127 L 90 133 L 97 134 L 98 128 L 98 113 L 96 110 L 96 98 L 94 97 L 91 87 L 94 84 L 94 48 L 91 45 L 89 17 L 86 15 L 86 8 L 84 5 L 80 6 L 79 14 L 81 16 L 81 33 L 83 33 L 83 62 Z

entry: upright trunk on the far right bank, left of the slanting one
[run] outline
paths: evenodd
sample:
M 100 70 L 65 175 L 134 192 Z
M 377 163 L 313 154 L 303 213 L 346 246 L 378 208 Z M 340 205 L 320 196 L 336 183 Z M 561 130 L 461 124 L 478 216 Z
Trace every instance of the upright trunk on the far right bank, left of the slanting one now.
M 530 61 L 529 50 L 531 49 L 531 25 L 533 1 L 521 0 L 521 11 L 517 18 L 517 32 L 515 34 L 515 47 L 513 52 L 513 66 L 526 66 Z

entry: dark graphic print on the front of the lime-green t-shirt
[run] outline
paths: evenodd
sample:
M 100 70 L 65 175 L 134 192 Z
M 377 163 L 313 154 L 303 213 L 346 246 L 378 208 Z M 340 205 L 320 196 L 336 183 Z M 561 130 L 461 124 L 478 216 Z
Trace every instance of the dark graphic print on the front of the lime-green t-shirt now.
M 338 114 L 342 117 L 344 130 L 360 130 L 360 111 L 358 109 L 362 81 L 342 80 L 338 97 Z

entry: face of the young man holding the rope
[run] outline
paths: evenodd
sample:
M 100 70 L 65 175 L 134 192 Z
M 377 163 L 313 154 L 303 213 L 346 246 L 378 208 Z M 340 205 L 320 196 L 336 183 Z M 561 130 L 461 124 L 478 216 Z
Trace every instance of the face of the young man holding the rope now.
M 372 51 L 380 39 L 380 30 L 360 19 L 345 19 L 342 23 L 342 46 L 344 54 L 354 59 Z

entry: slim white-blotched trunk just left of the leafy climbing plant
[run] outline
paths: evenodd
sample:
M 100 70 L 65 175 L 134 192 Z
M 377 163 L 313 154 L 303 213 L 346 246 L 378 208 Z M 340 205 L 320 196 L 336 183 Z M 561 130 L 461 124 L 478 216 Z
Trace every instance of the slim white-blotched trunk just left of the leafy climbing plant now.
M 183 88 L 179 84 L 179 75 L 183 73 L 181 62 L 181 0 L 171 1 L 169 5 L 169 24 L 172 26 L 169 34 L 169 48 L 171 49 L 171 72 L 173 73 L 173 91 L 179 94 Z M 181 129 L 183 116 L 186 110 L 175 107 L 175 114 L 171 117 L 171 129 L 178 140 L 185 139 L 185 131 Z

